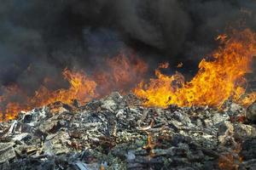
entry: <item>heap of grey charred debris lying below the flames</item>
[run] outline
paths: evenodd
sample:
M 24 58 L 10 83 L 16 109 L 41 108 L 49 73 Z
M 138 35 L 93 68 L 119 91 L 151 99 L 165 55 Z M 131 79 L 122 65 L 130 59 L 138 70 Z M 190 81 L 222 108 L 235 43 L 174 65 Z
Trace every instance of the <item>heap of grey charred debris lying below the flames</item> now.
M 133 94 L 56 102 L 0 123 L 0 169 L 256 169 L 256 104 L 143 107 Z

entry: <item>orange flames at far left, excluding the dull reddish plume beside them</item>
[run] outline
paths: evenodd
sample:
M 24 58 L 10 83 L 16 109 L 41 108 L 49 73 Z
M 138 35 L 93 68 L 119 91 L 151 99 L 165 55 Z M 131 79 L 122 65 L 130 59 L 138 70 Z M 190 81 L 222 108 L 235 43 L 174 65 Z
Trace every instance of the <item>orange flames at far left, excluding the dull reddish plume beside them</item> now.
M 5 89 L 1 96 L 1 113 L 4 119 L 14 119 L 20 111 L 29 111 L 32 108 L 49 105 L 55 101 L 72 104 L 73 99 L 78 99 L 84 103 L 96 97 L 96 82 L 90 80 L 83 71 L 69 71 L 65 69 L 62 75 L 70 83 L 70 88 L 50 91 L 45 86 L 41 86 L 31 98 L 26 96 L 18 86 Z M 11 98 L 20 95 L 22 101 L 9 102 Z M 5 105 L 6 102 L 9 102 Z

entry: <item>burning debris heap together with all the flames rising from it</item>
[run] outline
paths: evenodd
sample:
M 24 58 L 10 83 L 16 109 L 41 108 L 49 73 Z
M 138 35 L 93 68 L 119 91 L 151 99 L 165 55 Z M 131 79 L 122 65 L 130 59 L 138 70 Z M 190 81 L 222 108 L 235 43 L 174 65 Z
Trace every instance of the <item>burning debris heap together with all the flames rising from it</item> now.
M 147 81 L 146 63 L 120 54 L 106 60 L 108 71 L 65 69 L 68 88 L 49 90 L 55 81 L 48 78 L 32 96 L 4 88 L 1 168 L 255 168 L 255 92 L 248 87 L 256 35 L 232 31 L 218 41 L 190 82 L 162 73 L 168 64 Z M 22 102 L 12 101 L 17 95 Z

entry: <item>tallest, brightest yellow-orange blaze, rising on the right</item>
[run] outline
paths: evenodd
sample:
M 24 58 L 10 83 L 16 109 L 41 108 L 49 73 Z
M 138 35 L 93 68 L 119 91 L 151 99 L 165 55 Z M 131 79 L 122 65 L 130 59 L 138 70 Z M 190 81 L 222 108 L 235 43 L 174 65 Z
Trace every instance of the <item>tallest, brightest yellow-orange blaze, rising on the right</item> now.
M 221 46 L 212 53 L 212 60 L 202 59 L 199 71 L 190 82 L 180 73 L 167 76 L 155 71 L 156 78 L 149 83 L 141 82 L 134 92 L 145 99 L 145 105 L 220 106 L 227 99 L 237 101 L 246 89 L 244 75 L 251 71 L 253 55 L 256 54 L 256 34 L 249 29 L 233 31 L 231 37 L 218 37 Z M 255 99 L 255 96 L 254 96 Z

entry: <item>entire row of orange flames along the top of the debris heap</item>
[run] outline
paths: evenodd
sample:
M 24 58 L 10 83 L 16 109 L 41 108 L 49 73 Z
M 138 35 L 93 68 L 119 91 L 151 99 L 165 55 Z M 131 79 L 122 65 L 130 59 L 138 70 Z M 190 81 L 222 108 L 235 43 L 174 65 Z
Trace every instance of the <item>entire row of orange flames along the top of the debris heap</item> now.
M 0 96 L 2 120 L 13 119 L 20 111 L 49 105 L 55 101 L 72 104 L 75 99 L 84 104 L 90 99 L 102 97 L 112 91 L 127 93 L 132 90 L 144 105 L 166 107 L 168 105 L 221 106 L 227 99 L 242 105 L 249 105 L 256 99 L 256 93 L 242 96 L 246 92 L 245 75 L 252 71 L 253 57 L 256 54 L 256 35 L 246 29 L 233 31 L 217 38 L 221 45 L 214 51 L 212 59 L 202 59 L 199 71 L 190 82 L 185 82 L 180 73 L 173 76 L 164 75 L 160 69 L 168 64 L 160 65 L 155 71 L 156 78 L 140 82 L 147 71 L 143 60 L 134 56 L 130 58 L 119 55 L 107 59 L 108 70 L 95 71 L 88 76 L 84 71 L 65 69 L 62 74 L 69 82 L 70 88 L 51 91 L 42 85 L 32 97 L 22 89 L 14 86 L 3 88 Z M 44 79 L 44 84 L 54 80 Z M 132 89 L 134 88 L 134 89 Z M 21 100 L 20 101 L 15 101 Z

